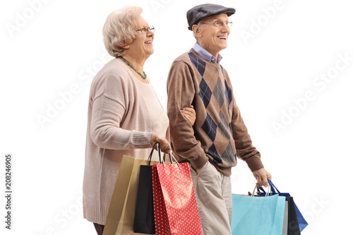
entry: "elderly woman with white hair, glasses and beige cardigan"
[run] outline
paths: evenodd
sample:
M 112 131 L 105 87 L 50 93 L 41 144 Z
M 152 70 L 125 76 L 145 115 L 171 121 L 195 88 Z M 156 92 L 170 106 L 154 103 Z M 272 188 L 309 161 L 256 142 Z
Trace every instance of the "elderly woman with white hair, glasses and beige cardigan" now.
M 83 179 L 83 216 L 97 234 L 104 229 L 123 155 L 147 159 L 155 142 L 169 145 L 169 120 L 143 65 L 153 54 L 154 28 L 129 6 L 112 12 L 103 27 L 104 45 L 115 59 L 95 76 L 90 88 Z M 193 125 L 196 114 L 186 107 Z

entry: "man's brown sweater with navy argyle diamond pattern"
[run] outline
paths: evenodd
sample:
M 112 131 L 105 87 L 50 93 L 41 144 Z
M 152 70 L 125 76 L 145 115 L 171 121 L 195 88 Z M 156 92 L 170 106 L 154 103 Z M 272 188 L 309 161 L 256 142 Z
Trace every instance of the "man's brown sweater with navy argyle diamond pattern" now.
M 225 68 L 203 59 L 194 49 L 174 60 L 167 81 L 169 128 L 172 149 L 179 161 L 201 169 L 210 161 L 229 176 L 237 157 L 251 171 L 263 167 L 253 147 Z M 192 104 L 196 122 L 191 126 L 181 114 Z

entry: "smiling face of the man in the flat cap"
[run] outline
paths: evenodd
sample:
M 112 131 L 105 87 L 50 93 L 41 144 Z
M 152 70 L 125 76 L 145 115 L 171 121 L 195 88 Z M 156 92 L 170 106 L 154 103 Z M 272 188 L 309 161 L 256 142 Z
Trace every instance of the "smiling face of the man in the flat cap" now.
M 205 48 L 210 54 L 217 58 L 222 49 L 227 48 L 227 39 L 230 33 L 228 25 L 224 24 L 222 28 L 217 28 L 215 25 L 204 23 L 215 23 L 216 21 L 227 21 L 227 14 L 220 14 L 218 16 L 211 16 L 203 18 L 199 27 L 198 44 Z

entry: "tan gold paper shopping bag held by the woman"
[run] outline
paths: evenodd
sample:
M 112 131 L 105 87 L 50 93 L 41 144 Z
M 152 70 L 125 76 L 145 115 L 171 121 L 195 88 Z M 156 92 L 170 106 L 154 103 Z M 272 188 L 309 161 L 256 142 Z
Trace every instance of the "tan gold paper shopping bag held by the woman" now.
M 133 232 L 133 221 L 136 209 L 138 175 L 140 165 L 148 163 L 148 160 L 124 155 L 109 205 L 107 220 L 104 224 L 103 235 L 136 235 Z

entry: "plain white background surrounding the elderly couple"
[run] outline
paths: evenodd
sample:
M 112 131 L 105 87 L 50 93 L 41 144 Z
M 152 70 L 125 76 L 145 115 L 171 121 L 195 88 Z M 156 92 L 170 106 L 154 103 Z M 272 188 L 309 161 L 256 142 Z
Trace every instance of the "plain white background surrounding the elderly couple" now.
M 155 54 L 144 70 L 166 108 L 169 66 L 194 43 L 186 11 L 205 1 L 1 1 L 3 192 L 4 158 L 6 153 L 13 155 L 12 230 L 5 229 L 6 203 L 1 196 L 1 234 L 95 234 L 93 225 L 83 219 L 81 200 L 88 92 L 90 80 L 109 59 L 102 25 L 109 13 L 127 2 L 141 6 L 145 20 L 156 28 Z M 217 1 L 237 9 L 228 48 L 221 52 L 222 66 L 265 168 L 280 191 L 294 196 L 309 222 L 302 234 L 349 234 L 352 4 L 275 2 Z M 274 6 L 277 10 L 268 10 L 266 16 L 266 9 Z M 252 37 L 244 39 L 245 31 Z M 346 64 L 339 54 L 350 58 Z M 327 73 L 334 77 L 329 83 L 316 80 Z M 63 102 L 59 94 L 67 95 L 72 86 L 76 93 Z M 308 91 L 312 99 L 303 102 Z M 301 100 L 301 107 L 294 100 Z M 54 104 L 61 110 L 52 111 L 41 125 L 38 115 L 47 116 Z M 294 117 L 285 118 L 284 112 Z M 277 132 L 274 121 L 283 125 Z M 232 191 L 247 193 L 255 179 L 246 164 L 238 162 Z

